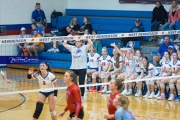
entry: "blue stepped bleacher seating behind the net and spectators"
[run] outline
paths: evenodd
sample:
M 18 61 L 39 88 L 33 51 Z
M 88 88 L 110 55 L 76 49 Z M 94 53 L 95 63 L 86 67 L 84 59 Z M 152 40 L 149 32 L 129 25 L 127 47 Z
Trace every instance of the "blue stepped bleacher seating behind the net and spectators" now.
M 77 17 L 79 24 L 83 23 L 83 17 L 90 18 L 92 27 L 97 30 L 98 34 L 109 33 L 126 33 L 135 25 L 135 19 L 140 18 L 145 31 L 151 30 L 151 11 L 126 11 L 126 10 L 86 10 L 86 9 L 66 9 L 66 15 L 58 17 L 57 26 L 53 29 L 59 29 L 67 26 L 73 17 Z M 56 19 L 52 19 L 52 23 Z M 144 37 L 144 40 L 149 40 L 149 37 Z M 102 39 L 102 46 L 106 46 L 109 55 L 112 55 L 113 48 L 110 43 L 121 43 L 118 39 Z M 120 44 L 122 47 L 122 44 Z M 70 52 L 59 45 L 60 53 L 46 52 L 51 48 L 50 43 L 45 44 L 45 51 L 40 54 L 40 59 L 47 61 L 54 68 L 68 69 L 71 64 Z M 140 48 L 140 41 L 135 41 L 134 48 Z M 37 65 L 36 65 L 37 66 Z

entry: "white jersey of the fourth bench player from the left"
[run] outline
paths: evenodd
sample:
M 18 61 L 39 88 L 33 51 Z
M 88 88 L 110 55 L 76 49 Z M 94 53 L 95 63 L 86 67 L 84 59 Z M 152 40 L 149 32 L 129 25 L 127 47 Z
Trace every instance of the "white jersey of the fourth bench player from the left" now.
M 129 60 L 127 57 L 124 58 L 124 65 L 125 65 L 125 71 L 127 73 L 133 73 L 134 72 L 134 60 Z

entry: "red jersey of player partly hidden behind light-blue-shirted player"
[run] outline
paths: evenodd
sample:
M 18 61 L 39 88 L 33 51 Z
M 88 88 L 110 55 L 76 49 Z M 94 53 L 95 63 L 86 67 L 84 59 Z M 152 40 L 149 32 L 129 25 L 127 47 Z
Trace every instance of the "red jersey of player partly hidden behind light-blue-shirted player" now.
M 109 112 L 110 115 L 115 114 L 115 112 L 116 112 L 116 108 L 113 105 L 113 100 L 114 100 L 114 98 L 116 97 L 117 94 L 120 94 L 120 92 L 118 91 L 118 92 L 110 95 L 108 105 L 107 105 L 108 112 Z M 109 120 L 115 120 L 115 118 L 109 119 Z

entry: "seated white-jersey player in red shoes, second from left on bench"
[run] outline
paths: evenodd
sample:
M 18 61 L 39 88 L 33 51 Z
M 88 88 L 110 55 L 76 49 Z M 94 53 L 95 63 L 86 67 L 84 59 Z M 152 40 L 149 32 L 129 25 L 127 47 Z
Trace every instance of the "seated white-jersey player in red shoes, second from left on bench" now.
M 96 83 L 96 77 L 100 77 L 102 80 L 102 83 L 108 82 L 109 77 L 109 71 L 111 70 L 111 57 L 107 54 L 106 47 L 102 48 L 102 56 L 99 58 L 99 69 L 98 72 L 94 72 L 92 74 L 92 83 Z M 91 87 L 91 91 L 96 91 L 96 87 Z M 101 89 L 98 91 L 100 93 L 106 93 L 107 91 L 107 85 L 104 85 L 101 87 Z

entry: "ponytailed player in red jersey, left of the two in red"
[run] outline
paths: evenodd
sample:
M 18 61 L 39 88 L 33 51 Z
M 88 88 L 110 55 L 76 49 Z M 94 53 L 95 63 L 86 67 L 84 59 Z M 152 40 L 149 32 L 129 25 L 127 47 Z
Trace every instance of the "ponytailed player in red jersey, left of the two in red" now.
M 70 111 L 70 115 L 67 120 L 82 120 L 84 117 L 84 111 L 81 101 L 81 91 L 77 84 L 76 74 L 68 70 L 64 74 L 64 82 L 68 85 L 66 90 L 67 106 L 60 116 L 63 116 L 67 110 Z

